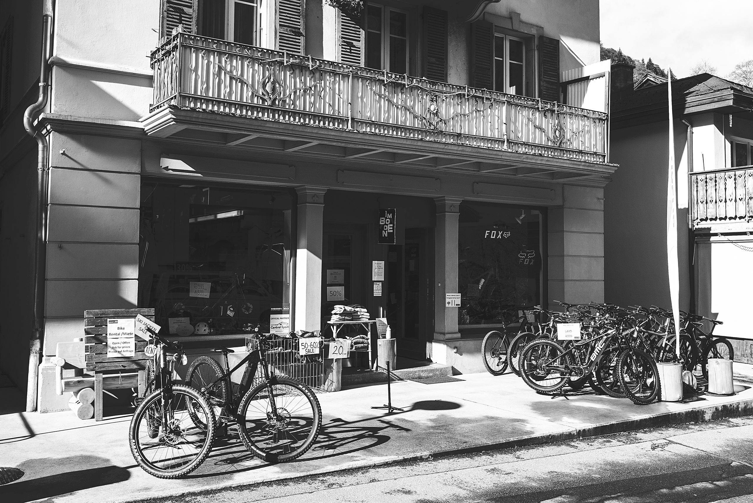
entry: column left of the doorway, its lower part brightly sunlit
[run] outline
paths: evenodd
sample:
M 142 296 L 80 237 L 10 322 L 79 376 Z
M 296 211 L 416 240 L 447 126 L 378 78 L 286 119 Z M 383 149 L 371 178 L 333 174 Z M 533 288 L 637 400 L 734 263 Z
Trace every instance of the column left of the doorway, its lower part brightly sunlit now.
M 296 187 L 298 193 L 295 261 L 295 330 L 322 325 L 322 226 L 325 187 Z

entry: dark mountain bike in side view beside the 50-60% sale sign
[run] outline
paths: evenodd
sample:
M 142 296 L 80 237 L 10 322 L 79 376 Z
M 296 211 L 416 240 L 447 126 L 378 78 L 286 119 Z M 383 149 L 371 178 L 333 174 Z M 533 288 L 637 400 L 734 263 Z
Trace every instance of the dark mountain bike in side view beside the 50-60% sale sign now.
M 319 399 L 300 381 L 276 376 L 267 362 L 272 335 L 256 334 L 246 338 L 248 355 L 230 369 L 228 348 L 215 348 L 224 358 L 224 368 L 214 358 L 200 356 L 186 373 L 186 383 L 219 410 L 222 428 L 237 425 L 245 447 L 266 462 L 287 462 L 308 451 L 322 426 Z M 230 375 L 245 365 L 242 380 L 235 386 Z M 261 371 L 261 376 L 258 373 Z M 206 416 L 197 413 L 201 422 Z

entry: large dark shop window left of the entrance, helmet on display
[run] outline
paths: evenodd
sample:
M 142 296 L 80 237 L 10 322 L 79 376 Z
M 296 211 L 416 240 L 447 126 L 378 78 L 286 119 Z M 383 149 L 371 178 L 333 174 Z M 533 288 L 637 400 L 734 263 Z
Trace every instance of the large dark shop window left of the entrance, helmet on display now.
M 290 303 L 291 217 L 287 191 L 142 184 L 139 306 L 165 333 L 269 332 Z

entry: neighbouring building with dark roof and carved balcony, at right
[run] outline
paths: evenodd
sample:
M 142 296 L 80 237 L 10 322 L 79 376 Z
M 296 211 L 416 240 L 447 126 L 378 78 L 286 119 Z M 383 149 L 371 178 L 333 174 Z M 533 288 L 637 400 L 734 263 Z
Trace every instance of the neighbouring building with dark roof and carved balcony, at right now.
M 613 66 L 632 72 L 630 66 Z M 630 78 L 623 78 L 629 81 Z M 615 89 L 605 189 L 605 299 L 669 308 L 667 84 Z M 719 319 L 715 334 L 753 339 L 753 89 L 709 74 L 672 81 L 680 309 Z M 751 343 L 733 342 L 738 361 Z

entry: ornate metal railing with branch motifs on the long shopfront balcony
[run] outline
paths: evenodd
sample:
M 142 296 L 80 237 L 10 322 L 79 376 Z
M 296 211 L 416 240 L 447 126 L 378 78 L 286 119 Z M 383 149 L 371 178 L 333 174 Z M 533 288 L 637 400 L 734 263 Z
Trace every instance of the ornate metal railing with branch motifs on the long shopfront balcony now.
M 607 114 L 177 33 L 154 105 L 606 162 Z

